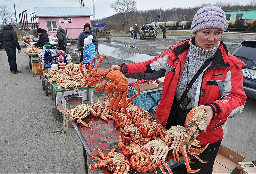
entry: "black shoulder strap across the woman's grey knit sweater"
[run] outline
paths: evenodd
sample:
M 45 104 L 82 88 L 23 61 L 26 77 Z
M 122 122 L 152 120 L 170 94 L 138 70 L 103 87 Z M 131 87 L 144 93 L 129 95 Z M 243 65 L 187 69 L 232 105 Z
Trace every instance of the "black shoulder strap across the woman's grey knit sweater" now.
M 197 73 L 194 75 L 194 77 L 192 78 L 192 80 L 189 82 L 187 88 L 185 89 L 185 91 L 183 92 L 181 98 L 178 101 L 178 104 L 176 106 L 176 110 L 178 109 L 178 107 L 180 106 L 181 102 L 185 99 L 188 91 L 190 90 L 190 88 L 192 87 L 192 85 L 194 84 L 194 82 L 196 81 L 196 79 L 199 77 L 199 75 L 203 72 L 203 70 L 209 65 L 209 63 L 212 61 L 213 58 L 211 59 L 207 59 L 204 64 L 201 66 L 201 68 L 197 71 Z

